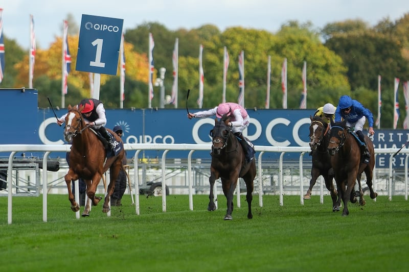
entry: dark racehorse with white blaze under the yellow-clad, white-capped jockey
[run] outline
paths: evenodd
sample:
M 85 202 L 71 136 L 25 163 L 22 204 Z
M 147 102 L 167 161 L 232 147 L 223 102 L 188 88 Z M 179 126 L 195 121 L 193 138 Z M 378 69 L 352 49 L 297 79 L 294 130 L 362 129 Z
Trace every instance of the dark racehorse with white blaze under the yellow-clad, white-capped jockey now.
M 323 122 L 320 116 L 310 116 L 310 147 L 312 152 L 312 167 L 310 187 L 304 195 L 304 199 L 311 199 L 312 187 L 318 177 L 323 176 L 325 186 L 330 191 L 332 199 L 332 211 L 339 211 L 340 199 L 333 183 L 334 171 L 331 166 L 331 156 L 328 153 L 329 125 Z

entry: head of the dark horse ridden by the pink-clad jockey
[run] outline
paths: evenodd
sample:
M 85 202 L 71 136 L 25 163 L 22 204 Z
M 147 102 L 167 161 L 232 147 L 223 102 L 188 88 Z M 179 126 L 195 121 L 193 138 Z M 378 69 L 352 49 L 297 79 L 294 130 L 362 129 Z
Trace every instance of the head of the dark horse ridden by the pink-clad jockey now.
M 212 137 L 212 154 L 220 155 L 220 152 L 227 146 L 231 128 L 229 127 L 230 117 L 223 115 L 220 120 L 215 118 L 215 126 L 210 131 Z

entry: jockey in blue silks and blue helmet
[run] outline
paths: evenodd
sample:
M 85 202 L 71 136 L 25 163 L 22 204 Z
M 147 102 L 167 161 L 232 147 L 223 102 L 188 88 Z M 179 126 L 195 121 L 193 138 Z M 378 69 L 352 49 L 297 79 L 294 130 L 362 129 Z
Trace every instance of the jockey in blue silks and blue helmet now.
M 347 120 L 347 126 L 353 128 L 356 135 L 358 135 L 359 140 L 363 143 L 361 145 L 363 153 L 363 161 L 365 163 L 369 162 L 370 154 L 368 147 L 365 143 L 365 136 L 362 133 L 363 125 L 365 125 L 366 118 L 368 118 L 369 134 L 374 135 L 374 118 L 372 112 L 367 108 L 363 107 L 356 100 L 348 95 L 343 95 L 339 98 L 338 107 L 335 111 L 335 121 L 341 121 L 341 118 Z

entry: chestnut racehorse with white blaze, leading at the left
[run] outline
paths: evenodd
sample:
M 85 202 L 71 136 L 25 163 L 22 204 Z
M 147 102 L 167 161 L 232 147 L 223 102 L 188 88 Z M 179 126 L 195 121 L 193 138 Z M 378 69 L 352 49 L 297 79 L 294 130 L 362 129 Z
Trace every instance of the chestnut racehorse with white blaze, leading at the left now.
M 92 205 L 96 206 L 102 199 L 100 196 L 95 196 L 97 186 L 102 175 L 109 168 L 110 182 L 102 208 L 102 211 L 106 213 L 110 210 L 110 196 L 113 193 L 119 170 L 123 167 L 122 158 L 125 152 L 122 149 L 117 155 L 107 158 L 104 164 L 107 155 L 104 144 L 98 138 L 94 130 L 86 125 L 84 118 L 81 115 L 82 109 L 83 106 L 78 109 L 78 106 L 73 108 L 70 105 L 68 106 L 68 114 L 65 117 L 64 138 L 67 142 L 72 140 L 73 143 L 70 152 L 70 169 L 64 179 L 68 188 L 71 209 L 76 212 L 80 209 L 80 206 L 74 200 L 74 194 L 71 190 L 71 182 L 78 178 L 82 178 L 86 184 L 86 194 L 92 202 Z M 108 130 L 108 132 L 115 137 L 115 142 L 122 142 L 121 138 L 116 133 L 113 133 L 111 130 Z M 88 201 L 82 216 L 88 216 L 89 210 L 90 207 Z

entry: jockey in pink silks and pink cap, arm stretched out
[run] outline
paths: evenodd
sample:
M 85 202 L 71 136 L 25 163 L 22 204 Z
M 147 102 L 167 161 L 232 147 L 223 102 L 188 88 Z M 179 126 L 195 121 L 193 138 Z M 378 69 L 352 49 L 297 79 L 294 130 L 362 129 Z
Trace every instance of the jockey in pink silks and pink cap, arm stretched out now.
M 232 128 L 232 132 L 238 138 L 240 138 L 240 143 L 243 146 L 244 153 L 246 155 L 246 161 L 250 162 L 254 159 L 254 145 L 242 134 L 243 130 L 250 124 L 250 117 L 247 111 L 236 103 L 221 103 L 219 106 L 207 110 L 199 111 L 196 113 L 188 114 L 188 118 L 205 118 L 216 115 L 217 118 L 221 118 L 222 115 L 230 116 L 229 127 Z

